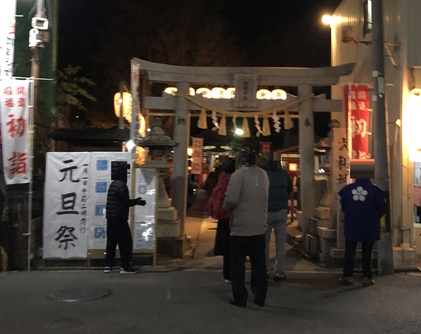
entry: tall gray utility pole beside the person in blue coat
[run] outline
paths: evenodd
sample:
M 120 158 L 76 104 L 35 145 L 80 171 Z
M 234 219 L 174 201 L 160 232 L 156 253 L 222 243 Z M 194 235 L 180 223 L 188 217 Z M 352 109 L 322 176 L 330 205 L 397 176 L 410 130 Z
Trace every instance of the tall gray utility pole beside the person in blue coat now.
M 385 227 L 380 230 L 377 243 L 377 269 L 379 276 L 394 273 L 393 267 L 393 229 L 391 224 L 392 201 L 390 201 L 390 166 L 389 166 L 389 131 L 385 108 L 385 61 L 383 37 L 383 1 L 372 0 L 373 29 L 372 65 L 373 65 L 373 126 L 374 126 L 374 175 L 375 182 L 386 192 L 389 210 L 385 215 Z

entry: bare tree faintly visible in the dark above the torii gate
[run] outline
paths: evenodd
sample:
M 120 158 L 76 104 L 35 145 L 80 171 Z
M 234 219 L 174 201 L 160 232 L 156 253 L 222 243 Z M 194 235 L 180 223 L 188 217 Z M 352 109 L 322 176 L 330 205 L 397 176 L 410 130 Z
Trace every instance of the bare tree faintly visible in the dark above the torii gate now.
M 131 58 L 185 66 L 240 66 L 222 0 L 113 1 L 102 12 L 99 61 L 118 82 L 128 80 Z M 130 10 L 128 10 L 130 8 Z M 118 47 L 116 47 L 118 46 Z

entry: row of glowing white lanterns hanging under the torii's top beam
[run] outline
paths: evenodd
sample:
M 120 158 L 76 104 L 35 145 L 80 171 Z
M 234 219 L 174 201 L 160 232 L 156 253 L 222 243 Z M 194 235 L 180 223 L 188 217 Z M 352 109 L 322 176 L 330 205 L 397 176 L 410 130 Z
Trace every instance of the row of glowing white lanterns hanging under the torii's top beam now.
M 175 95 L 177 93 L 176 87 L 167 87 L 164 90 L 165 93 Z M 235 98 L 235 88 L 197 88 L 194 91 L 194 88 L 189 88 L 189 95 L 202 95 L 203 98 L 223 98 L 223 99 L 233 99 Z M 256 92 L 256 98 L 258 100 L 286 100 L 287 94 L 286 91 L 282 89 L 274 89 L 269 91 L 268 89 L 259 89 Z

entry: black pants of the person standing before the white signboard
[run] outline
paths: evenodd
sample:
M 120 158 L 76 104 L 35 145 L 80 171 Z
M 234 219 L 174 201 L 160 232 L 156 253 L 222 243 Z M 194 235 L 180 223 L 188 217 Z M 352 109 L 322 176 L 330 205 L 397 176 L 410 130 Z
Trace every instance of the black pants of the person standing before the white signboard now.
M 116 246 L 119 245 L 121 267 L 130 267 L 133 241 L 127 220 L 107 220 L 107 248 L 105 267 L 111 267 L 116 257 Z

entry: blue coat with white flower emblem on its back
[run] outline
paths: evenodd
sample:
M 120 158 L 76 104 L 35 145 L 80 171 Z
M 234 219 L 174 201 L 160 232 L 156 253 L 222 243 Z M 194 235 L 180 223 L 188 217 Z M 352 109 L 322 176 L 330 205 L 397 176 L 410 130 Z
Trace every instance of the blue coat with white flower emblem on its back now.
M 374 242 L 380 239 L 380 218 L 387 209 L 386 194 L 368 179 L 357 179 L 340 192 L 348 241 Z

